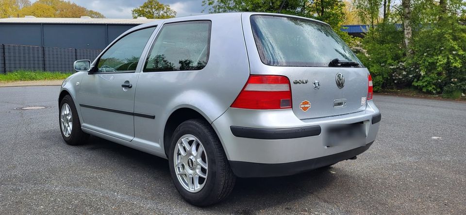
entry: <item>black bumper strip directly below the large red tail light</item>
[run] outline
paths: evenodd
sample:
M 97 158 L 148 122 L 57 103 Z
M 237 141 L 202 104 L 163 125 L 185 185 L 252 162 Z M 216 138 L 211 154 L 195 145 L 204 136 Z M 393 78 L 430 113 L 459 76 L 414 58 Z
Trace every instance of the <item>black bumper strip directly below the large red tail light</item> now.
M 257 129 L 231 126 L 230 129 L 232 130 L 233 135 L 237 137 L 264 140 L 292 139 L 300 137 L 318 136 L 321 132 L 320 126 L 318 125 L 290 129 Z

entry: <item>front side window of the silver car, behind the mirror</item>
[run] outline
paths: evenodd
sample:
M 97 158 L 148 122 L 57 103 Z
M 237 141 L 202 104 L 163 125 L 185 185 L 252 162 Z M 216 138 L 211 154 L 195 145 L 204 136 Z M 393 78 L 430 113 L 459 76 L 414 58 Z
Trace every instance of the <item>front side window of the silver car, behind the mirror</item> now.
M 155 27 L 130 33 L 112 45 L 100 57 L 99 72 L 133 72 Z

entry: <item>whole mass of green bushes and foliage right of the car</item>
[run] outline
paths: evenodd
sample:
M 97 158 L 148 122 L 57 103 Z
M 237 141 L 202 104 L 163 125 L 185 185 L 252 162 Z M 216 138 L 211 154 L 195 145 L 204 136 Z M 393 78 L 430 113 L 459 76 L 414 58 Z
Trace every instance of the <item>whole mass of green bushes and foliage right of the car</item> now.
M 411 1 L 411 39 L 405 38 L 403 25 L 396 28 L 405 18 L 400 5 L 366 33 L 357 55 L 372 74 L 374 91 L 414 87 L 449 98 L 466 93 L 466 1 L 443 3 Z

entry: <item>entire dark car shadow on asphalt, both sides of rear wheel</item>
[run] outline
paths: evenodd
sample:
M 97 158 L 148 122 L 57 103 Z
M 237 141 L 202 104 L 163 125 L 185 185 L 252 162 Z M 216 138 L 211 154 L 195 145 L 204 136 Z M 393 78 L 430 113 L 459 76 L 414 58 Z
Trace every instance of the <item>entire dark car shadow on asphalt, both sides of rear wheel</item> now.
M 166 159 L 94 136 L 91 136 L 88 143 L 79 148 L 89 152 L 99 151 L 99 156 L 115 160 L 114 165 L 122 165 L 125 171 L 133 171 L 131 167 L 137 167 L 138 171 L 147 171 L 148 175 L 153 176 L 151 180 L 154 180 L 154 184 L 171 188 L 172 192 L 178 195 L 171 182 Z M 128 165 L 130 169 L 127 168 Z M 227 199 L 219 204 L 202 208 L 202 210 L 212 213 L 246 215 L 277 205 L 282 205 L 285 210 L 287 208 L 292 210 L 295 206 L 290 203 L 297 202 L 296 200 L 300 198 L 309 198 L 313 193 L 332 184 L 335 177 L 330 172 L 331 169 L 331 167 L 324 167 L 298 175 L 274 178 L 237 178 L 233 192 Z M 181 196 L 178 197 L 183 202 Z M 185 206 L 194 207 L 187 203 Z M 228 208 L 227 211 L 225 211 L 226 208 Z

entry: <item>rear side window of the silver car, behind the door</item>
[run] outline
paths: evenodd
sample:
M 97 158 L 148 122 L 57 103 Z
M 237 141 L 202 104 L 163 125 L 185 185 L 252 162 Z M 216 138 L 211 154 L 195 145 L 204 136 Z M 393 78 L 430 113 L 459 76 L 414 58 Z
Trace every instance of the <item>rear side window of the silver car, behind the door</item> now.
M 144 65 L 144 72 L 200 70 L 209 59 L 210 21 L 165 24 Z

